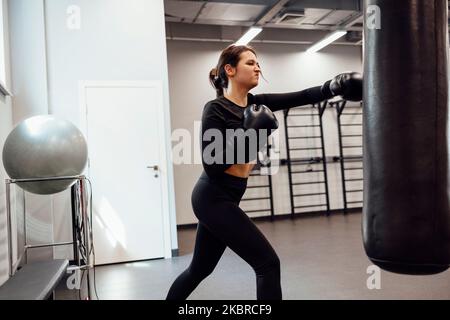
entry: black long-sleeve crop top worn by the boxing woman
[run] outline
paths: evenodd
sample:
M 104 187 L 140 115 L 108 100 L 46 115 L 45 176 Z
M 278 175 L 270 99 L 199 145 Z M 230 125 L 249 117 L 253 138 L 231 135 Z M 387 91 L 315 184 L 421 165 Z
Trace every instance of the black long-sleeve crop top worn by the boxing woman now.
M 289 93 L 275 93 L 275 94 L 258 94 L 253 95 L 251 93 L 247 96 L 247 107 L 256 105 L 265 105 L 272 111 L 278 111 L 283 109 L 289 109 L 297 106 L 315 104 L 327 99 L 330 99 L 333 94 L 327 89 L 328 86 L 318 86 L 305 89 L 297 92 Z M 241 106 L 233 103 L 232 101 L 221 96 L 217 99 L 209 101 L 202 114 L 202 130 L 201 130 L 201 146 L 202 146 L 202 164 L 206 174 L 209 177 L 220 177 L 224 172 L 235 163 L 248 163 L 249 158 L 246 157 L 244 162 L 236 161 L 234 157 L 233 161 L 226 158 L 227 148 L 230 146 L 226 143 L 226 131 L 227 129 L 242 129 L 242 120 L 244 116 L 244 110 Z M 221 134 L 222 143 L 220 148 L 212 146 L 213 142 L 217 142 L 216 136 L 209 133 Z M 206 133 L 206 134 L 205 134 Z M 236 141 L 234 141 L 236 142 Z M 233 145 L 235 147 L 235 145 Z M 248 148 L 248 144 L 246 145 Z M 247 151 L 248 152 L 248 151 Z M 211 160 L 211 155 L 216 161 Z M 220 161 L 217 161 L 220 159 Z

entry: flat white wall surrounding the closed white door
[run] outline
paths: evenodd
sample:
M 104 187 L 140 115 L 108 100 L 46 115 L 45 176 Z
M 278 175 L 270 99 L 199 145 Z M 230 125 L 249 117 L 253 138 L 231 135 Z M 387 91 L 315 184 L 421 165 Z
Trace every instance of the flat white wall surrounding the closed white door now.
M 81 10 L 80 29 L 66 27 L 66 11 L 72 5 Z M 169 110 L 163 1 L 47 0 L 45 9 L 52 114 L 68 118 L 77 126 L 80 124 L 78 85 L 81 80 L 160 80 L 164 106 Z M 169 112 L 165 120 L 165 142 L 170 150 Z M 172 166 L 168 167 L 167 196 L 174 219 L 173 173 Z M 62 212 L 67 208 L 66 199 L 55 203 L 55 210 Z M 60 228 L 67 225 L 59 219 L 55 224 Z M 175 229 L 172 233 L 176 239 Z

